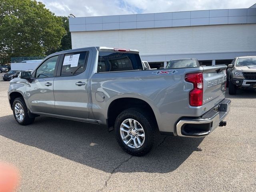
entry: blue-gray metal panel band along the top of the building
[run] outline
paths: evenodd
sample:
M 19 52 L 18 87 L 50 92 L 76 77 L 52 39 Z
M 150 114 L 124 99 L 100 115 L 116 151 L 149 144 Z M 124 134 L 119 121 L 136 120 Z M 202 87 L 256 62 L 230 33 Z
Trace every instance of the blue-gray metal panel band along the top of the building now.
M 256 8 L 73 17 L 70 32 L 256 23 Z

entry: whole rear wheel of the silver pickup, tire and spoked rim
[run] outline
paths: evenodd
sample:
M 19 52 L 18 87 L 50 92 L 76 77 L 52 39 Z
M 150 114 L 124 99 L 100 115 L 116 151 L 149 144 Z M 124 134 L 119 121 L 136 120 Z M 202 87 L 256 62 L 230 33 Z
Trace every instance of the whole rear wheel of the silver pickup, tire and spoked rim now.
M 152 118 L 140 108 L 121 112 L 114 124 L 116 140 L 121 148 L 134 156 L 143 156 L 157 144 L 159 130 Z

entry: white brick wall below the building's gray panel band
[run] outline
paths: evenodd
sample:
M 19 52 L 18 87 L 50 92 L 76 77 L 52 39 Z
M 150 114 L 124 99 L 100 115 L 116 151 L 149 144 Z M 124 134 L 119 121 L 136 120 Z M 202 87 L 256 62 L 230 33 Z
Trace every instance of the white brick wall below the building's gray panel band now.
M 72 48 L 137 49 L 142 56 L 256 51 L 256 24 L 72 32 Z

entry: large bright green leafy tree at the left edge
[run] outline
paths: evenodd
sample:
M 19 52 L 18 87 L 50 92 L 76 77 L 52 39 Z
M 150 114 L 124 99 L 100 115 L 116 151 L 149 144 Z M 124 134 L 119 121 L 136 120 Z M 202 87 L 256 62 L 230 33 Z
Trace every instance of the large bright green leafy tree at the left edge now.
M 36 0 L 0 0 L 0 60 L 44 56 L 66 34 L 62 18 Z

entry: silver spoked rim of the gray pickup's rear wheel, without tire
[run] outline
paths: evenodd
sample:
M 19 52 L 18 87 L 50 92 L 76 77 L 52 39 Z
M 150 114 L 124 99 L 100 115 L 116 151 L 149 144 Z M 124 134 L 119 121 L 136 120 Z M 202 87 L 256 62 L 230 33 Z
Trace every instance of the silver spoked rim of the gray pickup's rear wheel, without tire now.
M 121 138 L 128 147 L 140 148 L 145 141 L 145 133 L 142 125 L 134 119 L 126 119 L 120 126 Z

